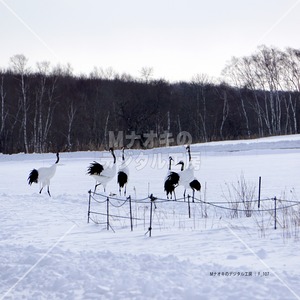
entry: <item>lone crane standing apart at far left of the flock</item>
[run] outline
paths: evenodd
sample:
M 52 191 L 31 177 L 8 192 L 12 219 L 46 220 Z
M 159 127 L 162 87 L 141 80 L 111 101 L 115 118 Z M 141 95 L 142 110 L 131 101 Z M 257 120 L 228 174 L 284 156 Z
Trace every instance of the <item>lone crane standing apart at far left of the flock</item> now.
M 28 184 L 40 183 L 40 194 L 43 188 L 47 185 L 47 192 L 50 194 L 50 179 L 55 175 L 56 167 L 59 162 L 59 153 L 56 153 L 56 162 L 51 167 L 41 167 L 39 169 L 33 169 L 28 176 Z

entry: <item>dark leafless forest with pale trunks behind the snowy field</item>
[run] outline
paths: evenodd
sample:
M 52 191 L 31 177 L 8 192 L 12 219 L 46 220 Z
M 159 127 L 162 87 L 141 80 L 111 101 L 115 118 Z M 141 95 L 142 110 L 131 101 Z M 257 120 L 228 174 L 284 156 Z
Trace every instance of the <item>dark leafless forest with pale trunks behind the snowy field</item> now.
M 151 75 L 151 68 L 138 79 L 95 68 L 75 76 L 69 65 L 32 70 L 24 55 L 12 56 L 0 69 L 0 152 L 107 149 L 120 132 L 135 133 L 130 146 L 141 148 L 162 145 L 166 133 L 176 145 L 183 131 L 193 143 L 299 133 L 300 50 L 260 46 L 233 57 L 218 83 Z M 150 132 L 153 143 L 145 143 Z

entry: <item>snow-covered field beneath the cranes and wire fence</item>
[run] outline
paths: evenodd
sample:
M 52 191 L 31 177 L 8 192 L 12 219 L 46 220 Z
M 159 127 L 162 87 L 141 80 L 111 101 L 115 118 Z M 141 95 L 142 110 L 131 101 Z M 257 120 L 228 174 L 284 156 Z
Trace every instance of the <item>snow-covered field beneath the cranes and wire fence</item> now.
M 92 199 L 103 215 L 87 223 L 95 182 L 86 170 L 110 163 L 108 152 L 61 153 L 51 198 L 27 177 L 54 163 L 53 153 L 0 155 L 0 299 L 300 299 L 299 150 L 299 135 L 191 145 L 202 184 L 191 218 L 187 201 L 163 201 L 168 156 L 186 161 L 184 147 L 127 150 L 133 231 L 124 197 L 111 202 L 109 230 L 105 196 Z M 242 178 L 257 199 L 259 177 L 265 205 L 293 203 L 278 211 L 276 230 L 271 210 L 255 204 L 251 217 L 236 217 L 223 208 L 238 200 Z M 118 197 L 116 179 L 106 192 Z M 151 237 L 150 194 L 158 198 Z

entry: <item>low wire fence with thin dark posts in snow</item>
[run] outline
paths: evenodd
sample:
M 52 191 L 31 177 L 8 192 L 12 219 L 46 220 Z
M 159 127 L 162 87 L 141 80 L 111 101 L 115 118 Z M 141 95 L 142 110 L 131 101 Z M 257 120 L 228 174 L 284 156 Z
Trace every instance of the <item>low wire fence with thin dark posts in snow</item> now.
M 209 218 L 239 218 L 255 216 L 256 222 L 268 223 L 274 229 L 287 226 L 291 222 L 300 226 L 299 201 L 273 198 L 251 199 L 248 201 L 208 202 L 188 195 L 176 200 L 163 199 L 151 194 L 141 199 L 117 197 L 89 191 L 87 222 L 94 222 L 115 231 L 116 228 L 143 226 L 145 234 L 151 236 L 152 230 L 172 228 L 197 229 L 203 220 Z M 292 211 L 291 211 L 292 210 Z M 261 221 L 258 221 L 261 218 Z M 273 220 L 273 221 L 270 221 Z

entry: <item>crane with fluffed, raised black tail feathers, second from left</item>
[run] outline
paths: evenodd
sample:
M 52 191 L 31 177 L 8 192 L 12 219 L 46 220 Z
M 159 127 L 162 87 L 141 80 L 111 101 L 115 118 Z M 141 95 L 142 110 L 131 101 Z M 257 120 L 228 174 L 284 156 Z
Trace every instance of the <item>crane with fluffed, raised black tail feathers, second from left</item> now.
M 110 148 L 109 152 L 113 157 L 113 165 L 104 167 L 103 165 L 94 161 L 90 164 L 87 170 L 87 174 L 92 176 L 96 180 L 95 190 L 96 192 L 97 186 L 102 185 L 104 193 L 106 192 L 106 185 L 109 181 L 111 181 L 116 175 L 116 156 L 114 153 L 114 149 Z

